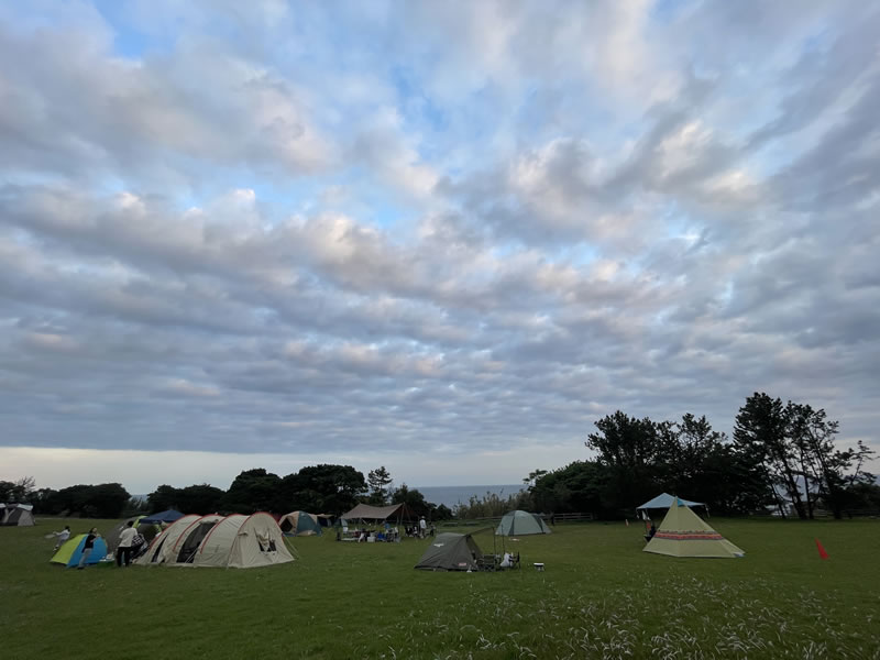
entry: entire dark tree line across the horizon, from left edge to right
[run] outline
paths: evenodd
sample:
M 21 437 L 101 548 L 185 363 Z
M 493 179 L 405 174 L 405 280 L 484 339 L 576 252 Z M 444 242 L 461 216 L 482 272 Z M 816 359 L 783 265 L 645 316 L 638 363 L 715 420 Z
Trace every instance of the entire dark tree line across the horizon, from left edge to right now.
M 583 512 L 598 518 L 631 516 L 660 492 L 707 504 L 713 513 L 743 515 L 769 507 L 783 517 L 840 518 L 848 509 L 880 508 L 880 486 L 865 470 L 873 452 L 861 441 L 838 449 L 839 424 L 825 410 L 755 393 L 739 408 L 734 437 L 715 431 L 705 416 L 679 421 L 636 418 L 618 410 L 595 422 L 585 446 L 595 458 L 525 477 L 527 488 L 506 498 L 472 497 L 455 510 L 426 502 L 405 483 L 394 486 L 385 466 L 366 477 L 351 465 L 319 464 L 278 476 L 245 470 L 223 491 L 208 484 L 156 487 L 133 501 L 121 484 L 36 490 L 33 480 L 0 482 L 0 502 L 31 502 L 44 515 L 114 518 L 123 513 L 176 508 L 188 514 L 306 510 L 341 515 L 358 503 L 406 504 L 432 520 L 498 516 L 512 508 Z

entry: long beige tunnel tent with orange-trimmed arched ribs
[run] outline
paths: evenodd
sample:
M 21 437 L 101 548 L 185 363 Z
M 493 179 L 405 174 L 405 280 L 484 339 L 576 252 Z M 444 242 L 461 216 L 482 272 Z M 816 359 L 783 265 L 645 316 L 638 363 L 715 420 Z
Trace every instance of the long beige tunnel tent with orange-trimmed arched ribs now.
M 153 539 L 135 564 L 168 564 L 253 569 L 294 561 L 275 518 L 184 516 Z

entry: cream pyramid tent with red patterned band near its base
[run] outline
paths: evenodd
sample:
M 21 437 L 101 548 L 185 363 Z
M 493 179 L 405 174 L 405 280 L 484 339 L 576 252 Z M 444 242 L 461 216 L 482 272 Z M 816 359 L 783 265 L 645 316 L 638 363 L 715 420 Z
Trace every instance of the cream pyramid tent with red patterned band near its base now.
M 678 499 L 678 498 L 676 498 Z M 683 501 L 669 507 L 645 552 L 671 557 L 743 557 L 745 552 L 712 529 Z

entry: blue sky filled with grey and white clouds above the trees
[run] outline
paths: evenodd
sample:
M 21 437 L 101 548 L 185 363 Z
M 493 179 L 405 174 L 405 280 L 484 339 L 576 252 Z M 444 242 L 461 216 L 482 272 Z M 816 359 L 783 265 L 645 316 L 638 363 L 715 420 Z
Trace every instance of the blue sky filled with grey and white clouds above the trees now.
M 0 4 L 0 479 L 880 449 L 880 6 Z M 870 466 L 869 466 L 870 469 Z M 875 468 L 877 470 L 877 468 Z

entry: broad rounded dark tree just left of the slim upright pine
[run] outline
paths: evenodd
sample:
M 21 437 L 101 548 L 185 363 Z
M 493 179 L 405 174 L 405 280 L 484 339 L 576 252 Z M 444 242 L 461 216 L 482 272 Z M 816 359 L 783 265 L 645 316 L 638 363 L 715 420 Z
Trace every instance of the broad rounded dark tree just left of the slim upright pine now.
M 300 509 L 334 516 L 351 509 L 365 491 L 366 481 L 362 472 L 351 465 L 326 463 L 288 474 L 280 484 L 286 510 Z

